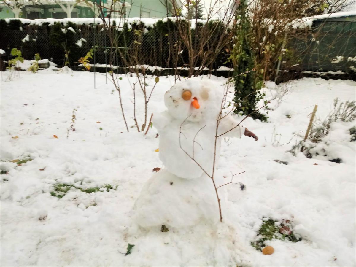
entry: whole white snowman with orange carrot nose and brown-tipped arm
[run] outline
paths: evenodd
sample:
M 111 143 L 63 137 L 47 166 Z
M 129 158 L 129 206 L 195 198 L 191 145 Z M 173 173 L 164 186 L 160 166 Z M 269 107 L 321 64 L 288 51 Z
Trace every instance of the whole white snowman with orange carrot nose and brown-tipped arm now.
M 238 122 L 231 115 L 222 115 L 218 121 L 223 98 L 220 84 L 199 78 L 179 82 L 164 94 L 167 110 L 155 114 L 152 121 L 159 133 L 164 168 L 146 182 L 135 203 L 140 226 L 183 227 L 219 220 L 209 176 L 220 157 L 220 138 L 258 139 L 246 128 L 236 127 Z M 219 136 L 216 143 L 215 136 Z

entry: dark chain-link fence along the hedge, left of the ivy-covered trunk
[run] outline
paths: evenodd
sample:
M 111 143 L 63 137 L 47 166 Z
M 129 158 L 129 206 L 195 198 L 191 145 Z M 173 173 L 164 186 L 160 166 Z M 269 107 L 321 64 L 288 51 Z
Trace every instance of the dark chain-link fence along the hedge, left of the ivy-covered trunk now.
M 114 49 L 111 48 L 112 40 L 115 40 Z M 216 40 L 218 37 L 210 37 L 208 46 L 214 47 Z M 71 30 L 66 27 L 55 29 L 47 26 L 3 30 L 0 38 L 0 48 L 8 55 L 11 48 L 17 48 L 25 59 L 33 59 L 34 55 L 39 53 L 41 58 L 48 58 L 59 66 L 65 62 L 65 51 L 69 51 L 70 65 L 75 66 L 79 58 L 84 57 L 93 47 L 95 56 L 90 63 L 111 63 L 120 67 L 147 64 L 163 68 L 185 67 L 189 63 L 188 50 L 178 32 L 172 32 L 168 36 L 153 30 L 145 33 L 115 30 L 108 35 L 103 27 L 79 25 L 75 30 Z M 222 49 L 211 67 L 231 67 L 230 63 L 226 63 L 228 57 L 229 54 Z

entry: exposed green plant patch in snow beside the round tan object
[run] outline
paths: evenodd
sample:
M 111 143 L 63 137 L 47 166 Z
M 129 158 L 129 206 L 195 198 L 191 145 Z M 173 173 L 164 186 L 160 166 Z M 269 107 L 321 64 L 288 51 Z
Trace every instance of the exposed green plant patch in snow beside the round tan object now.
M 282 241 L 299 242 L 301 237 L 296 237 L 291 230 L 292 226 L 289 220 L 283 220 L 284 223 L 269 219 L 263 221 L 260 230 L 257 232 L 258 239 L 255 242 L 251 242 L 251 246 L 256 250 L 262 251 L 262 248 L 266 246 L 265 241 L 278 239 Z

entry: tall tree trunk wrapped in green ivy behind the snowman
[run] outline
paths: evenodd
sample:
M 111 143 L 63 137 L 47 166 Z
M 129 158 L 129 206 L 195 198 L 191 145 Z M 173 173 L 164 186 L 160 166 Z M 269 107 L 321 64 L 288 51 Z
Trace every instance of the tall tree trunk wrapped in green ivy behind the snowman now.
M 251 20 L 247 12 L 247 4 L 241 1 L 236 11 L 236 36 L 230 60 L 234 64 L 234 113 L 251 114 L 253 119 L 267 121 L 267 117 L 256 111 L 258 101 L 264 94 L 260 93 L 263 80 L 260 73 L 255 73 L 255 53 L 251 45 L 253 39 Z M 266 103 L 265 103 L 266 104 Z M 253 113 L 252 113 L 253 112 Z

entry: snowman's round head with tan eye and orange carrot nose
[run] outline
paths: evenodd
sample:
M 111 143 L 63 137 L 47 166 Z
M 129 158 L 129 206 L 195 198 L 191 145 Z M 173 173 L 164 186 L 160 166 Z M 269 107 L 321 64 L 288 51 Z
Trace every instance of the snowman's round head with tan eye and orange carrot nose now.
M 210 80 L 189 78 L 171 87 L 164 104 L 172 117 L 187 121 L 215 119 L 219 115 L 224 89 Z

